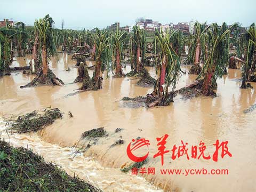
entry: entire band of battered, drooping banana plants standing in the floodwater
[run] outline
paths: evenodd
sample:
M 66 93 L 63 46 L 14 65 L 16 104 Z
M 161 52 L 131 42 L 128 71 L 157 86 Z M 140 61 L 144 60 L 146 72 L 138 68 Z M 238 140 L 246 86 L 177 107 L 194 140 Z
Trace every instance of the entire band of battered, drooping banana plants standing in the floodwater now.
M 153 32 L 134 26 L 132 33 L 129 34 L 119 29 L 60 30 L 54 29 L 53 23 L 53 19 L 46 15 L 35 21 L 34 28 L 26 27 L 22 22 L 18 22 L 14 27 L 6 25 L 5 28 L 1 28 L 0 73 L 4 74 L 10 70 L 13 50 L 17 48 L 19 55 L 33 53 L 31 63 L 32 66 L 35 65 L 37 74 L 31 83 L 21 87 L 63 85 L 61 79 L 47 66 L 47 59 L 57 53 L 58 46 L 62 46 L 62 51 L 75 52 L 73 59 L 77 59 L 77 66 L 81 61 L 84 63 L 84 67 L 79 69 L 79 78 L 75 81 L 83 82 L 79 90 L 98 90 L 102 88 L 103 71 L 107 70 L 107 77 L 110 71 L 115 73 L 114 77 L 125 76 L 122 61 L 127 57 L 129 60 L 125 62 L 130 62 L 131 71 L 126 76 L 140 77 L 140 86 L 154 85 L 153 93 L 147 96 L 148 106 L 165 106 L 173 101 L 174 95 L 171 92 L 174 91 L 182 73 L 180 61 L 182 54 L 185 53 L 185 45 L 188 45 L 188 55 L 184 63 L 193 64 L 189 74 L 198 75 L 198 84 L 201 85 L 202 81 L 199 83 L 199 80 L 203 80 L 203 95 L 215 95 L 213 90 L 217 89 L 217 78 L 227 74 L 231 46 L 232 49 L 236 48 L 235 59 L 244 62 L 241 87 L 248 87 L 246 81 L 256 81 L 254 24 L 242 34 L 242 28 L 238 23 L 229 27 L 226 23 L 218 26 L 217 23 L 206 25 L 196 22 L 194 34 L 185 36 L 179 29 L 164 32 L 156 29 Z M 90 58 L 95 60 L 93 77 L 90 77 L 87 71 L 92 68 L 87 68 L 85 63 L 85 60 Z M 145 65 L 155 67 L 157 79 L 150 77 Z

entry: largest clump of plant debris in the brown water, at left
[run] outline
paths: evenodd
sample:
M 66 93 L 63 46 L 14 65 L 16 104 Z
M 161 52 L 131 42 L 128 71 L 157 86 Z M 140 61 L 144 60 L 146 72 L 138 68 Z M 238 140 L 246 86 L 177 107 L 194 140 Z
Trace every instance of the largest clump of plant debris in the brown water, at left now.
M 27 133 L 39 131 L 44 127 L 51 125 L 56 119 L 61 118 L 62 114 L 58 108 L 45 109 L 41 115 L 38 111 L 33 111 L 26 115 L 19 116 L 12 123 L 10 130 L 16 133 Z

